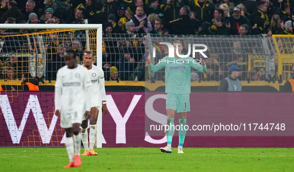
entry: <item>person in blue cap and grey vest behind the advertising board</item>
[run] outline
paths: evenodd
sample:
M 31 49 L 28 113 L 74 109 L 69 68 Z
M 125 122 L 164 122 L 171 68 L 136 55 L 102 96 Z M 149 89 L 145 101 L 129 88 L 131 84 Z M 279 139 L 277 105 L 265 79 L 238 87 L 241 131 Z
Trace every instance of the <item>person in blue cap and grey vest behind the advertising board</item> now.
M 227 91 L 242 91 L 242 84 L 238 79 L 240 74 L 240 67 L 237 65 L 232 65 L 229 67 L 229 71 L 231 75 L 222 79 L 218 86 L 219 92 L 227 92 Z

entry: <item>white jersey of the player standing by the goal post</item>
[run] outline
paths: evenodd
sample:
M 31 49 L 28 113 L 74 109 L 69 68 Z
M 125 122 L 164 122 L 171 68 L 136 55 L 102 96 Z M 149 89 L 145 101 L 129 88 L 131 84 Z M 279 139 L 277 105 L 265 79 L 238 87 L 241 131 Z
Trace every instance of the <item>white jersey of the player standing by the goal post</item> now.
M 98 107 L 102 100 L 105 100 L 104 72 L 92 64 L 92 69 L 88 70 L 90 77 L 91 107 Z

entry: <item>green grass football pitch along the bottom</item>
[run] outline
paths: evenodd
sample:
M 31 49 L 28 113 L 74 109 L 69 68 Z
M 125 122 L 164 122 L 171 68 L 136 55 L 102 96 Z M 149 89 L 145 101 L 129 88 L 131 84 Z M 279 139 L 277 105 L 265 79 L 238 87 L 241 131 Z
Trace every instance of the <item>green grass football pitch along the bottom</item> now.
M 84 149 L 81 149 L 81 153 Z M 294 171 L 293 148 L 102 148 L 82 157 L 79 168 L 64 169 L 65 148 L 0 148 L 1 172 L 284 172 Z

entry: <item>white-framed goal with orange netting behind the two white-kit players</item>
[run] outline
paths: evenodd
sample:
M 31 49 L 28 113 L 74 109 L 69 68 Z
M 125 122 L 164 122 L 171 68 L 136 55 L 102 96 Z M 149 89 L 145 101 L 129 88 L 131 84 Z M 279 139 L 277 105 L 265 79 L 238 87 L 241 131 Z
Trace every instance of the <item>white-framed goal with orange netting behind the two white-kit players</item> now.
M 0 28 L 0 127 L 9 131 L 1 138 L 7 143 L 0 146 L 62 145 L 64 130 L 53 112 L 56 73 L 65 65 L 67 48 L 76 51 L 81 64 L 84 52 L 91 51 L 101 67 L 102 26 L 0 24 Z M 40 92 L 22 92 L 23 76 L 38 82 Z M 99 116 L 97 146 L 101 147 Z

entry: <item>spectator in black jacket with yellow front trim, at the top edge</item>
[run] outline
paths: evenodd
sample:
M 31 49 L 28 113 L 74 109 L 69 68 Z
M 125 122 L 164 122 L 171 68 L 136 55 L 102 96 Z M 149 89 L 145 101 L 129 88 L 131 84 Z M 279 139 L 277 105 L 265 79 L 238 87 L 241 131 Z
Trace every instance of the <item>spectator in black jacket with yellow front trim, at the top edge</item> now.
M 209 0 L 192 0 L 190 5 L 200 23 L 211 22 L 214 14 L 214 5 Z

